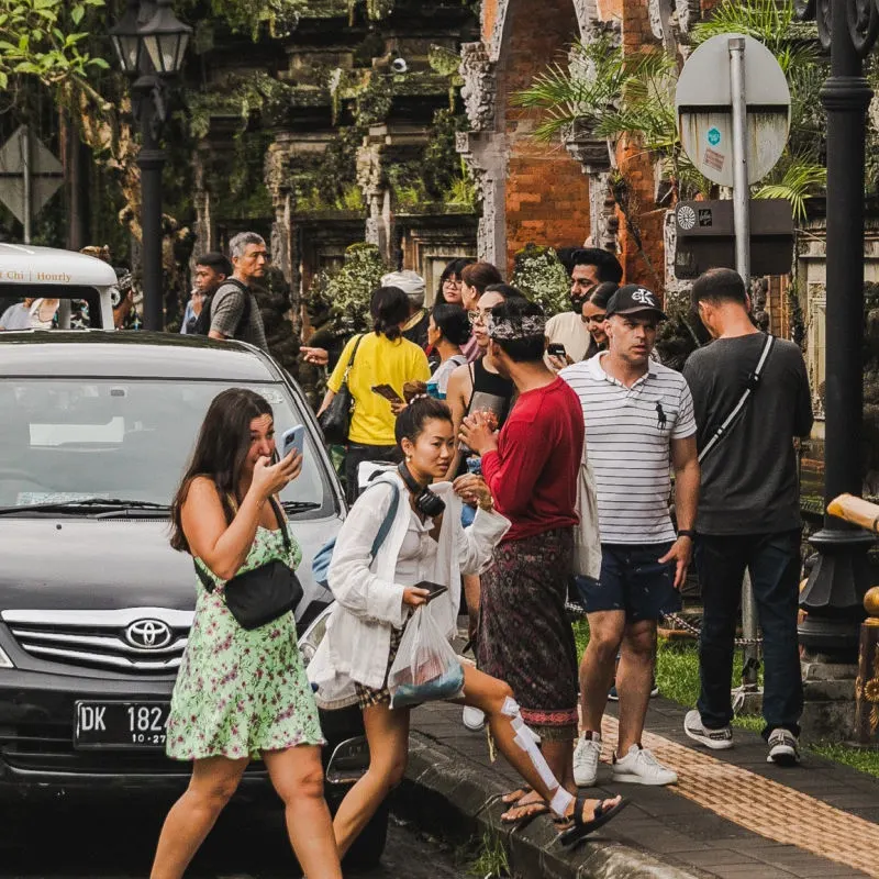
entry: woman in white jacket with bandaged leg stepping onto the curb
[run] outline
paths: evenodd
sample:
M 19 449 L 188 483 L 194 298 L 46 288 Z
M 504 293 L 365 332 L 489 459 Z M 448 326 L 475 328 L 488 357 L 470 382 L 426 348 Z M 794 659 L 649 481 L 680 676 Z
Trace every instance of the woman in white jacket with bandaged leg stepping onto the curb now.
M 455 454 L 452 414 L 445 403 L 414 396 L 398 419 L 397 439 L 405 461 L 360 496 L 338 534 L 329 572 L 336 603 L 309 666 L 319 704 L 341 708 L 358 702 L 369 742 L 369 769 L 345 797 L 333 823 L 341 855 L 405 770 L 410 709 L 391 709 L 387 681 L 411 611 L 427 602 L 429 591 L 415 585 L 426 580 L 448 587 L 422 612 L 430 613 L 452 639 L 460 575 L 478 574 L 510 527 L 494 511 L 481 477 L 467 475 L 454 483 L 432 485 L 443 478 Z M 432 515 L 425 514 L 430 509 L 425 492 L 443 502 L 433 504 Z M 392 524 L 374 558 L 374 543 L 394 498 L 399 502 Z M 468 528 L 460 524 L 461 500 L 478 507 Z M 465 666 L 461 701 L 486 713 L 498 748 L 544 798 L 542 803 L 513 806 L 504 820 L 519 822 L 552 812 L 568 825 L 561 841 L 572 844 L 625 804 L 619 797 L 575 800 L 559 785 L 503 681 Z

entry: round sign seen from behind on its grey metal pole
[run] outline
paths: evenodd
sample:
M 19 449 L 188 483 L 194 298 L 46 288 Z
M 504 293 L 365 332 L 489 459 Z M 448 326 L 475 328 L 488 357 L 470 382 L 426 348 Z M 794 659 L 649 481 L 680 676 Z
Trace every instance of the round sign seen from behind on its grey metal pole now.
M 733 188 L 735 268 L 747 286 L 752 246 L 748 187 L 763 179 L 785 151 L 790 129 L 785 73 L 772 53 L 754 37 L 719 34 L 688 58 L 678 79 L 675 105 L 681 146 L 691 162 L 709 180 Z M 689 214 L 683 215 L 689 220 Z M 680 220 L 679 212 L 679 226 Z M 677 262 L 676 255 L 676 275 Z M 758 667 L 757 647 L 752 644 L 757 638 L 757 614 L 747 576 L 742 627 L 749 642 L 743 683 L 753 690 Z

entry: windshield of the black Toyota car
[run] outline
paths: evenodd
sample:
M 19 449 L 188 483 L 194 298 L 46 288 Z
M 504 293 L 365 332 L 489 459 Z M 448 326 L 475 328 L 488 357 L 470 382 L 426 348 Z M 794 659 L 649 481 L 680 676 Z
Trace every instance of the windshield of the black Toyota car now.
M 0 383 L 0 508 L 93 499 L 170 504 L 208 407 L 241 383 L 131 379 L 4 378 Z M 275 430 L 302 424 L 280 383 L 251 383 L 275 412 Z M 281 493 L 288 509 L 331 499 L 320 453 L 307 435 L 301 476 Z

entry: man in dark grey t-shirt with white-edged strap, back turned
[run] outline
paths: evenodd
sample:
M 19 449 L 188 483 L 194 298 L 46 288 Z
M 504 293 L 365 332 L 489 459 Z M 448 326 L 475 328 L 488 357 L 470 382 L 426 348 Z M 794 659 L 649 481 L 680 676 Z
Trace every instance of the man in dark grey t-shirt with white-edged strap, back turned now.
M 752 323 L 745 285 L 732 269 L 706 271 L 694 282 L 692 299 L 714 340 L 690 355 L 683 369 L 701 453 L 742 399 L 767 336 Z M 715 750 L 732 747 L 733 647 L 747 568 L 765 645 L 764 737 L 769 759 L 780 765 L 799 760 L 802 521 L 793 439 L 811 430 L 812 398 L 802 354 L 792 342 L 774 340 L 756 391 L 724 438 L 701 459 L 696 563 L 704 603 L 702 689 L 685 732 Z

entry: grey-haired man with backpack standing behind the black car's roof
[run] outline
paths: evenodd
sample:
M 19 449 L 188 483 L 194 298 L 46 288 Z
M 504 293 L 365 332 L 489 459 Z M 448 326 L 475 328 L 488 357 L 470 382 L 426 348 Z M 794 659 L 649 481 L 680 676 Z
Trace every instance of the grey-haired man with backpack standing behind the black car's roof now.
M 266 242 L 255 232 L 241 232 L 229 243 L 234 271 L 220 285 L 209 305 L 211 338 L 237 338 L 268 351 L 263 315 L 252 285 L 266 276 Z

